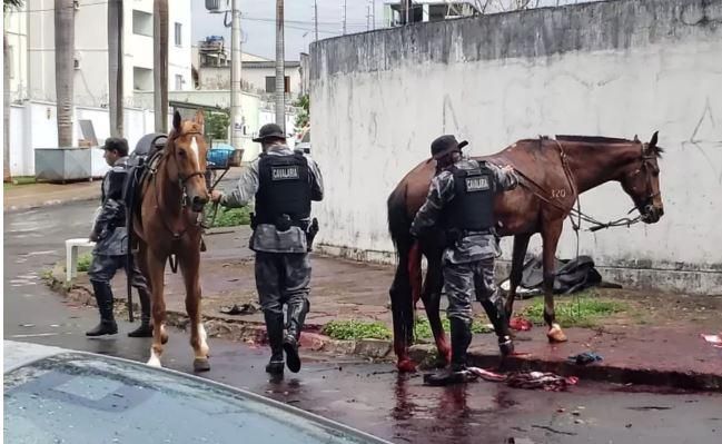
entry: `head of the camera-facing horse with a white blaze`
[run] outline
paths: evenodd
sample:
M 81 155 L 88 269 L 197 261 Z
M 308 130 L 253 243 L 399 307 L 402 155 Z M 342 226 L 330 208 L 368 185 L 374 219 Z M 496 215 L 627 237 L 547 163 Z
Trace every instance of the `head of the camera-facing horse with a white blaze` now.
M 205 178 L 208 146 L 202 128 L 204 115 L 200 110 L 192 120 L 181 120 L 180 114 L 176 111 L 167 150 L 171 171 L 175 169 L 171 179 L 178 180 L 184 204 L 190 204 L 191 209 L 198 213 L 202 211 L 210 197 Z

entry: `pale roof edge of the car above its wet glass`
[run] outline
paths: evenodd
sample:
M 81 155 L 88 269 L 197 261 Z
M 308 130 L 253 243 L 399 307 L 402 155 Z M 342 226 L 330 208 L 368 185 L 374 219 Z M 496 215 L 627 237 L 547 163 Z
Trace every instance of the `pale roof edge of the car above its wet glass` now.
M 53 346 L 47 346 L 47 345 L 40 345 L 40 344 L 32 344 L 32 343 L 24 343 L 24 342 L 17 342 L 17 341 L 7 341 L 3 339 L 3 373 L 7 375 L 20 367 L 23 367 L 26 365 L 30 365 L 32 363 L 53 357 L 53 356 L 62 356 L 62 355 L 75 355 L 75 356 L 82 356 L 82 357 L 95 357 L 98 359 L 107 359 L 107 361 L 115 361 L 115 362 L 120 362 L 120 363 L 129 363 L 133 365 L 140 365 L 142 366 L 142 363 L 138 363 L 135 361 L 130 359 L 125 359 L 120 357 L 115 357 L 115 356 L 108 356 L 108 355 L 98 355 L 95 353 L 88 353 L 88 352 L 80 352 L 80 351 L 72 351 L 72 349 L 67 349 L 67 348 L 61 348 L 61 347 L 53 347 Z M 177 372 L 170 368 L 156 368 L 156 367 L 150 367 L 146 366 L 148 372 L 162 372 L 165 374 L 168 374 L 170 376 L 176 376 L 185 379 L 190 379 L 197 384 L 202 384 L 209 387 L 216 387 L 221 391 L 229 392 L 229 394 L 234 395 L 239 395 L 248 401 L 251 402 L 257 402 L 259 404 L 264 404 L 268 407 L 275 407 L 278 408 L 279 411 L 283 411 L 288 414 L 293 414 L 295 416 L 298 416 L 299 418 L 309 421 L 310 423 L 316 423 L 318 425 L 323 425 L 329 428 L 334 428 L 336 431 L 346 433 L 348 435 L 355 436 L 357 438 L 363 440 L 364 442 L 367 443 L 379 443 L 379 444 L 389 444 L 388 441 L 379 438 L 377 436 L 367 434 L 365 432 L 362 432 L 359 430 L 356 430 L 354 427 L 347 426 L 345 424 L 335 422 L 333 420 L 325 418 L 323 416 L 318 416 L 316 414 L 303 411 L 298 407 L 294 407 L 291 405 L 280 403 L 278 401 L 274 401 L 270 398 L 267 398 L 261 395 L 257 395 L 253 392 L 248 392 L 241 388 L 237 388 L 227 384 L 218 383 L 211 379 L 206 379 L 201 378 L 191 374 L 186 374 L 182 372 Z

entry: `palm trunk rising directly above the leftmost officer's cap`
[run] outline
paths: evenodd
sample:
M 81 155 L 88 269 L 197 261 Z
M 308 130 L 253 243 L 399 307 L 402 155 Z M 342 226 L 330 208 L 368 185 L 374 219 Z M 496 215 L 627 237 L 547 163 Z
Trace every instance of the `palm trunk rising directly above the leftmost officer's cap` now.
M 108 101 L 110 136 L 122 137 L 122 0 L 108 0 Z

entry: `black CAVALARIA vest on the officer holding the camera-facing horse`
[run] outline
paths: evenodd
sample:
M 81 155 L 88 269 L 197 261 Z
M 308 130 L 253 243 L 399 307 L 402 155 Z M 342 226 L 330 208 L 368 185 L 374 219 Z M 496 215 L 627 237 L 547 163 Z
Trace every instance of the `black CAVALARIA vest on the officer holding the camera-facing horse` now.
M 310 170 L 303 154 L 261 155 L 258 179 L 258 224 L 276 224 L 283 215 L 294 223 L 310 217 Z

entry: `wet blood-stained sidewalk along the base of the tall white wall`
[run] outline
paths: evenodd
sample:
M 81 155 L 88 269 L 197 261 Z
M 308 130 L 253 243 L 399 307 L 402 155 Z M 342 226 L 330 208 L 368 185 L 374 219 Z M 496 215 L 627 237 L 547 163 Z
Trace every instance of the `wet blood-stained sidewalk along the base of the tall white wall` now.
M 207 237 L 209 250 L 201 262 L 202 313 L 211 336 L 263 342 L 265 332 L 260 313 L 221 313 L 222 308 L 234 304 L 240 306 L 257 300 L 253 257 L 246 248 L 248 236 L 248 228 L 243 227 L 217 230 Z M 393 268 L 323 256 L 314 256 L 313 267 L 311 312 L 303 336 L 304 346 L 314 351 L 394 359 L 389 341 L 339 342 L 319 334 L 323 326 L 334 319 L 377 320 L 390 326 L 388 287 Z M 169 274 L 166 283 L 169 323 L 184 326 L 187 318 L 180 276 Z M 120 275 L 113 282 L 119 299 L 125 300 L 125 276 Z M 566 328 L 570 341 L 565 344 L 550 345 L 546 328 L 541 325 L 530 332 L 518 332 L 518 355 L 506 359 L 503 368 L 551 371 L 621 384 L 722 391 L 722 348 L 715 348 L 700 337 L 701 333 L 722 330 L 721 297 L 611 289 L 599 289 L 597 293 L 600 297 L 624 302 L 630 307 L 629 313 L 610 316 L 603 325 L 594 328 Z M 95 303 L 85 276 L 78 278 L 68 294 L 82 303 Z M 570 297 L 557 297 L 556 300 Z M 518 302 L 515 305 L 517 313 L 528 302 Z M 421 307 L 419 304 L 419 315 L 423 314 Z M 478 304 L 474 308 L 483 319 Z M 604 361 L 589 366 L 567 363 L 567 356 L 587 351 L 602 355 Z M 412 352 L 417 362 L 433 362 L 436 356 L 431 343 L 415 345 Z M 493 335 L 474 337 L 471 361 L 484 367 L 500 364 Z

